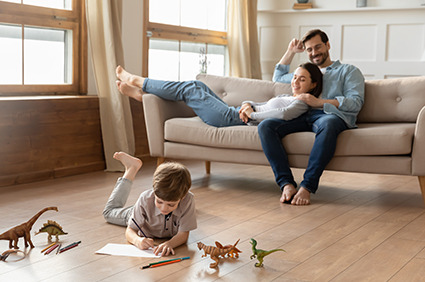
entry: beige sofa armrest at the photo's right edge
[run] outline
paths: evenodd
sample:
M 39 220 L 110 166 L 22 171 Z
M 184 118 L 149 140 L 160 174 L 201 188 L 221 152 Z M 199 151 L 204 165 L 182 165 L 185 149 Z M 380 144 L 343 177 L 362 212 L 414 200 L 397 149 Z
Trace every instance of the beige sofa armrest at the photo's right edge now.
M 425 107 L 419 112 L 416 121 L 412 149 L 412 175 L 425 175 Z

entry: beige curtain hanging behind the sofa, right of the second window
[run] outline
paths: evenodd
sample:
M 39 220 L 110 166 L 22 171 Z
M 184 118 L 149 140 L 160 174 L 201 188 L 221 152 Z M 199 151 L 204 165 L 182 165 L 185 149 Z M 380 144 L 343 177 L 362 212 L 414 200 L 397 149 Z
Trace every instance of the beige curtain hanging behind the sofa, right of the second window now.
M 257 0 L 229 0 L 227 17 L 230 76 L 261 79 Z

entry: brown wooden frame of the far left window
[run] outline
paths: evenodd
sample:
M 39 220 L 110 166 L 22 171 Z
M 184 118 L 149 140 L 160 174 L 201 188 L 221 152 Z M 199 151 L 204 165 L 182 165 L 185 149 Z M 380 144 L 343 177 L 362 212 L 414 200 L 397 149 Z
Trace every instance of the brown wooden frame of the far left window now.
M 0 96 L 78 95 L 87 93 L 88 49 L 84 0 L 73 0 L 72 10 L 0 1 L 0 24 L 20 25 L 22 30 L 23 26 L 68 29 L 72 30 L 73 42 L 71 83 L 1 84 Z M 22 37 L 22 44 L 23 40 Z

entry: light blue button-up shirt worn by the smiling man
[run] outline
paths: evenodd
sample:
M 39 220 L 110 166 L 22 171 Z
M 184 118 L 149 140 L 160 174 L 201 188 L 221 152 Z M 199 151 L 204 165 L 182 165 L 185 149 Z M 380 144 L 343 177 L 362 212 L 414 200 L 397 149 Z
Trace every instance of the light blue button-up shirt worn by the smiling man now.
M 289 65 L 277 64 L 273 81 L 291 83 L 293 73 L 289 73 Z M 364 77 L 361 71 L 348 64 L 333 62 L 323 75 L 322 99 L 337 99 L 339 107 L 326 103 L 323 111 L 334 114 L 345 121 L 349 128 L 356 127 L 357 115 L 364 103 Z

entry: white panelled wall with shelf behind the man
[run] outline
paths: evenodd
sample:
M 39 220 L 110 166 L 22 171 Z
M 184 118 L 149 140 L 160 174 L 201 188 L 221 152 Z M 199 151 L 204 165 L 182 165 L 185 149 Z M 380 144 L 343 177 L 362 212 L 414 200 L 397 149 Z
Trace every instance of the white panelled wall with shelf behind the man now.
M 263 79 L 289 41 L 313 28 L 324 30 L 331 59 L 358 66 L 366 79 L 425 75 L 425 0 L 312 0 L 313 9 L 292 10 L 295 0 L 259 0 L 258 29 Z M 297 55 L 292 68 L 307 61 Z

